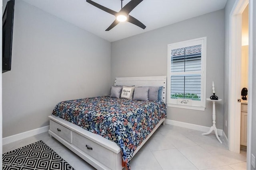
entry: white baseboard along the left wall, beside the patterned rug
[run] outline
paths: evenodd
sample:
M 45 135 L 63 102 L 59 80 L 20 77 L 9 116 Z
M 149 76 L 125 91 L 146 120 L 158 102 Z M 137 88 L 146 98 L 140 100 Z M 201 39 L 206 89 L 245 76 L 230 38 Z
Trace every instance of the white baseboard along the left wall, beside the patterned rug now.
M 2 139 L 2 145 L 6 145 L 8 143 L 12 143 L 21 139 L 25 139 L 27 137 L 32 137 L 34 135 L 38 135 L 40 133 L 44 133 L 47 132 L 49 130 L 50 126 L 44 126 L 44 127 L 40 127 L 38 129 L 33 129 L 31 131 L 26 131 L 26 132 L 22 132 L 22 133 L 18 133 L 16 135 L 12 135 L 12 136 L 8 136 L 8 137 L 4 137 Z

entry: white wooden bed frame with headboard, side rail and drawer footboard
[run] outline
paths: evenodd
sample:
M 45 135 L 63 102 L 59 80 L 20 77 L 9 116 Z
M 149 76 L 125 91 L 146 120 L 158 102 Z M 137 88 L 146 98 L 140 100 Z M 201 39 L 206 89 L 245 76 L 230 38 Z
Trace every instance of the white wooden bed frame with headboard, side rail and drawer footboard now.
M 162 100 L 164 103 L 166 101 L 166 76 L 118 77 L 115 79 L 114 85 L 163 86 Z M 98 170 L 121 170 L 123 168 L 121 149 L 116 143 L 100 135 L 86 131 L 60 117 L 50 115 L 49 118 L 50 130 L 48 132 L 50 136 L 60 141 L 60 143 L 94 166 L 94 168 Z M 165 118 L 160 120 L 153 131 L 135 150 L 133 156 L 161 124 L 165 124 Z

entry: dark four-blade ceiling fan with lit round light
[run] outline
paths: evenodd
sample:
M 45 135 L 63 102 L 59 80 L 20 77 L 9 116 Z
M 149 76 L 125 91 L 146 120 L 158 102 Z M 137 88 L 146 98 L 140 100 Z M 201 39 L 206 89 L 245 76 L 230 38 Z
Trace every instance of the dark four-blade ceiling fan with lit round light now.
M 145 29 L 146 26 L 143 23 L 129 15 L 129 13 L 142 1 L 143 0 L 131 0 L 123 7 L 123 0 L 121 0 L 121 10 L 119 12 L 116 12 L 100 4 L 97 4 L 92 0 L 86 0 L 86 2 L 88 2 L 89 4 L 92 4 L 93 6 L 96 6 L 97 8 L 100 8 L 101 10 L 108 12 L 109 14 L 116 16 L 116 20 L 114 20 L 114 22 L 105 31 L 109 31 L 110 29 L 114 28 L 119 22 L 123 21 L 128 21 L 130 23 L 133 23 L 134 25 L 137 25 L 138 27 L 141 27 L 142 29 Z

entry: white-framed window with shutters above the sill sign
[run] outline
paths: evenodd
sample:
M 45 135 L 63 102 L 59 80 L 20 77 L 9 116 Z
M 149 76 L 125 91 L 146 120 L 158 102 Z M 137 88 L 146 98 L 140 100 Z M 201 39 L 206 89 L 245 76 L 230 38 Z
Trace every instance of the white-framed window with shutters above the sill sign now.
M 206 37 L 168 44 L 167 105 L 205 109 Z

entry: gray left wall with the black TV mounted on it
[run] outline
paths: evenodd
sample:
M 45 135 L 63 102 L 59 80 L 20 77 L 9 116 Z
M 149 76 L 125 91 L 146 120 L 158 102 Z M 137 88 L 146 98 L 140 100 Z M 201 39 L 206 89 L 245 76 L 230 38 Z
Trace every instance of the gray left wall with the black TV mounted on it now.
M 49 125 L 60 101 L 109 94 L 110 46 L 16 0 L 12 70 L 2 74 L 3 137 Z

